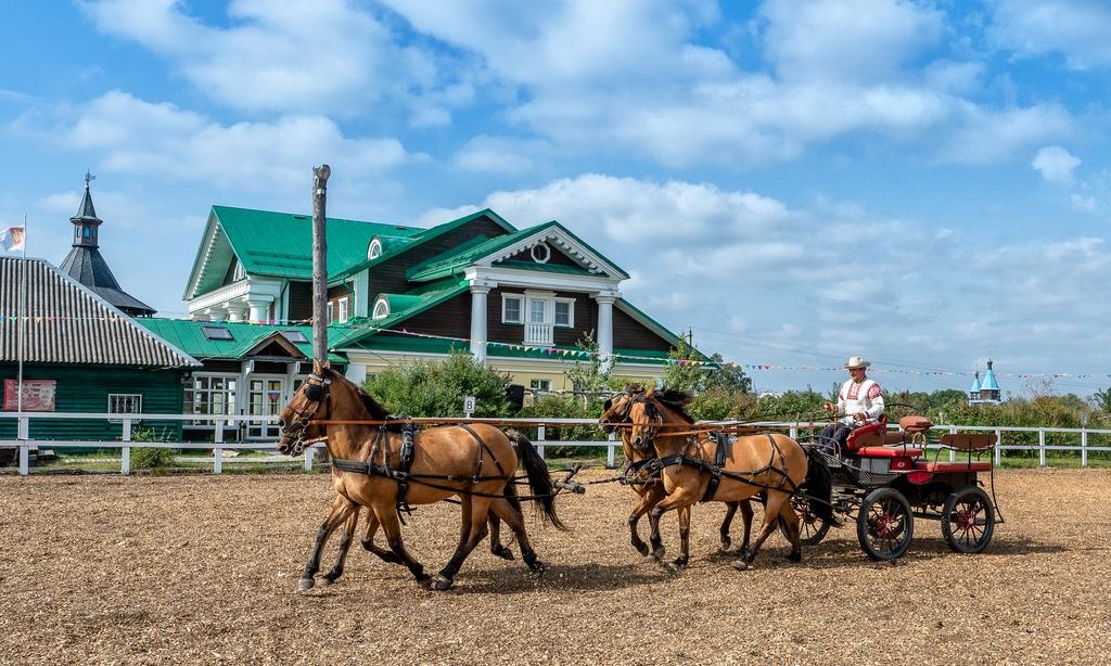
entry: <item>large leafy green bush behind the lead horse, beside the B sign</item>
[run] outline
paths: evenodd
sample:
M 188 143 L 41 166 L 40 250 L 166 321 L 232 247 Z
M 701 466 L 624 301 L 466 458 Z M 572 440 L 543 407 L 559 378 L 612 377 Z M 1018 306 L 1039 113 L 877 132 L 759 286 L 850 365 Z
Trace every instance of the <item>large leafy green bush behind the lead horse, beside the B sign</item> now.
M 474 416 L 506 416 L 509 375 L 487 367 L 466 352 L 446 361 L 417 361 L 391 367 L 363 384 L 393 414 L 462 416 L 463 398 L 476 398 Z

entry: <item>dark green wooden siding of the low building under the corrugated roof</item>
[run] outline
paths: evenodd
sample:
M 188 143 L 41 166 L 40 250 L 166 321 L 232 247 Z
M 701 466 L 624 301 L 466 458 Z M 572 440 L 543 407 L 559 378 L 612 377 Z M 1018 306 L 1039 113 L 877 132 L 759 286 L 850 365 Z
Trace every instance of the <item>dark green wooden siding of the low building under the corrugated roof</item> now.
M 17 367 L 0 366 L 0 380 L 17 377 Z M 108 412 L 110 393 L 142 395 L 142 411 L 159 414 L 180 414 L 184 398 L 180 370 L 134 370 L 120 366 L 47 366 L 24 365 L 24 380 L 53 380 L 57 384 L 56 412 L 83 412 L 103 414 Z M 9 412 L 10 413 L 10 412 Z M 30 436 L 39 446 L 49 446 L 42 440 L 87 440 L 92 442 L 118 442 L 123 427 L 119 423 L 59 418 L 34 418 L 30 422 Z M 0 438 L 16 438 L 14 418 L 0 418 Z M 149 421 L 134 423 L 132 427 L 157 431 L 164 438 L 181 438 L 180 421 Z

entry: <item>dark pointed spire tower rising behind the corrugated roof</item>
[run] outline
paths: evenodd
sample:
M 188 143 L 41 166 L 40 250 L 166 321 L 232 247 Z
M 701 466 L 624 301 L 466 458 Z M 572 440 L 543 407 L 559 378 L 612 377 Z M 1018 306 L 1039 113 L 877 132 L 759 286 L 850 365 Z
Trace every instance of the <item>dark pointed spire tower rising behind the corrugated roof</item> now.
M 89 190 L 89 183 L 96 178 L 89 172 L 84 174 L 84 196 L 81 198 L 77 214 L 70 218 L 73 223 L 73 249 L 59 268 L 124 314 L 151 316 L 154 309 L 121 290 L 108 262 L 100 254 L 100 225 L 104 221 L 97 216 L 92 192 Z

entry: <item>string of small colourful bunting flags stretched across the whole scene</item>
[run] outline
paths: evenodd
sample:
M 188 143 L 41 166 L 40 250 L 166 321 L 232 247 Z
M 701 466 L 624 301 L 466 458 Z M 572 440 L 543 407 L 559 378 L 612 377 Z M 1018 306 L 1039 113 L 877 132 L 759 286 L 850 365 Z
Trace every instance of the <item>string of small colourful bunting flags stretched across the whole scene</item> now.
M 24 315 L 13 316 L 13 315 L 0 315 L 0 325 L 3 324 L 16 324 L 20 319 L 27 322 L 42 323 L 42 322 L 53 322 L 53 321 L 107 321 L 107 322 L 122 322 L 128 321 L 130 317 L 127 316 L 52 316 L 52 315 Z M 264 320 L 260 322 L 204 322 L 211 323 L 213 325 L 233 324 L 237 326 L 311 326 L 312 320 Z M 421 337 L 428 340 L 439 340 L 444 342 L 456 342 L 460 344 L 470 344 L 470 339 L 468 337 L 453 337 L 450 335 L 434 335 L 431 333 L 419 333 L 416 331 L 409 331 L 402 327 L 401 330 L 389 329 L 383 326 L 376 326 L 368 323 L 332 323 L 329 324 L 329 329 L 339 330 L 350 330 L 350 331 L 373 331 L 376 333 L 391 333 L 394 335 L 406 335 L 409 337 Z M 496 342 L 488 341 L 487 345 L 514 350 L 528 353 L 540 353 L 546 356 L 557 356 L 560 359 L 573 360 L 573 361 L 589 361 L 594 357 L 594 353 L 589 350 L 581 349 L 567 349 L 558 347 L 554 345 L 528 345 L 519 344 L 512 342 Z M 647 362 L 653 364 L 665 364 L 665 365 L 678 365 L 681 367 L 705 367 L 708 370 L 720 369 L 720 367 L 738 367 L 745 372 L 842 372 L 841 366 L 827 366 L 827 365 L 780 365 L 774 363 L 737 363 L 734 361 L 700 361 L 695 359 L 670 359 L 661 356 L 644 356 L 638 354 L 624 354 L 620 352 L 614 352 L 610 354 L 610 357 L 615 361 L 625 361 L 631 363 Z M 969 372 L 958 372 L 950 370 L 908 370 L 900 367 L 884 367 L 882 365 L 873 365 L 870 369 L 872 372 L 881 372 L 889 374 L 904 374 L 913 376 L 969 376 L 971 377 L 973 373 Z M 1052 379 L 1072 379 L 1072 380 L 1095 380 L 1095 379 L 1108 379 L 1111 377 L 1111 373 L 1100 373 L 1100 372 L 995 372 L 997 376 L 1008 377 L 1008 379 L 1019 379 L 1019 380 L 1052 380 Z

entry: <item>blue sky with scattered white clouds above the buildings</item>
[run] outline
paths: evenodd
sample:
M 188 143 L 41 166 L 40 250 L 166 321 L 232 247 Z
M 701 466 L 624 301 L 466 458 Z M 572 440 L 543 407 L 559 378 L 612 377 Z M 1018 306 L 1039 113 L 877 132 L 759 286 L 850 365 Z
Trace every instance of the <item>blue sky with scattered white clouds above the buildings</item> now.
M 161 316 L 214 204 L 558 220 L 761 391 L 1111 385 L 1111 6 L 81 0 L 0 24 L 0 226 Z M 760 369 L 752 366 L 771 366 Z

